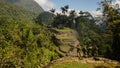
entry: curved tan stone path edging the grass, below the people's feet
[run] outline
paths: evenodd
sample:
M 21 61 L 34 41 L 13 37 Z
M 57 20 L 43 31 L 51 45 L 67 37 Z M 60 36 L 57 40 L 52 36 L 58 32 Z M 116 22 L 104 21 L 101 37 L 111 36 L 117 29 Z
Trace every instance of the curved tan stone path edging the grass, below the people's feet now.
M 67 56 L 67 57 L 63 57 L 63 58 L 51 61 L 49 64 L 45 65 L 43 68 L 50 68 L 51 65 L 57 64 L 57 63 L 73 62 L 73 61 L 80 62 L 80 63 L 103 63 L 103 64 L 104 63 L 112 63 L 112 64 L 119 63 L 118 61 L 110 60 L 110 59 L 102 58 L 102 57 L 97 57 L 97 58 L 90 57 L 90 58 L 83 58 L 80 60 L 78 57 Z

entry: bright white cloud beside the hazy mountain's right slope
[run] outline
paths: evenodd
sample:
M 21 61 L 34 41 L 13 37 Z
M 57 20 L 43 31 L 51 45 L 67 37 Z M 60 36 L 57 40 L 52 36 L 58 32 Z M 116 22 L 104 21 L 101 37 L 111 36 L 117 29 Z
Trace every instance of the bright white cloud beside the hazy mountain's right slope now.
M 49 0 L 34 0 L 36 1 L 40 6 L 42 6 L 45 10 L 49 10 L 51 8 L 55 7 L 55 4 Z

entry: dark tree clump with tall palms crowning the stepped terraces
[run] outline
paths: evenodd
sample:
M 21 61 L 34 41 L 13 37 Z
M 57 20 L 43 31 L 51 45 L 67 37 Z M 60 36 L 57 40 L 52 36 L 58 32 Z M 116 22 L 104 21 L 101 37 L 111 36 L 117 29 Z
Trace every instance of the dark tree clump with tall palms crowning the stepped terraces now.
M 68 9 L 68 5 L 61 7 L 62 13 L 57 13 L 57 15 L 54 16 L 54 21 L 52 23 L 53 27 L 60 29 L 63 29 L 64 27 L 74 28 L 76 12 L 75 10 L 71 10 L 69 13 Z M 51 9 L 50 11 L 54 13 L 55 9 Z

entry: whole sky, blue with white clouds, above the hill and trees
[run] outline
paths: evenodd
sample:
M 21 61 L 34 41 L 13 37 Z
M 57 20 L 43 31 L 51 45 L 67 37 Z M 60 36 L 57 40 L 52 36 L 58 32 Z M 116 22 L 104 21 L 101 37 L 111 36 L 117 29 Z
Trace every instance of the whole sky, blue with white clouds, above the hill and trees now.
M 60 7 L 69 5 L 70 9 L 89 11 L 92 15 L 101 15 L 100 11 L 96 11 L 99 7 L 98 2 L 103 0 L 35 0 L 44 10 L 50 10 L 51 8 L 59 11 Z M 120 0 L 113 0 L 112 4 L 118 3 Z

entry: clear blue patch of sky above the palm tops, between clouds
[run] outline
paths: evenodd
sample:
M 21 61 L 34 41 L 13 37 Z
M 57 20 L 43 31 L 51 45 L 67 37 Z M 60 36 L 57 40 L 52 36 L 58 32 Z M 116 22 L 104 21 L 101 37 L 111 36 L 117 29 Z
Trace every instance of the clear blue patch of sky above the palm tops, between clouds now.
M 76 10 L 96 10 L 98 7 L 97 2 L 101 0 L 49 0 L 55 4 L 55 8 L 58 9 L 61 6 L 69 5 L 70 8 Z

